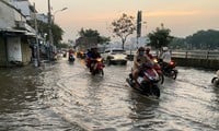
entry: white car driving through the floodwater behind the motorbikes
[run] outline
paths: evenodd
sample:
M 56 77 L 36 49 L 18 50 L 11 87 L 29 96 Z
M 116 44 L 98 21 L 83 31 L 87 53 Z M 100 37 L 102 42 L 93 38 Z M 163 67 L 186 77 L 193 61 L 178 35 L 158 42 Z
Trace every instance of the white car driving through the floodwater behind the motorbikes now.
M 127 63 L 126 50 L 120 48 L 106 49 L 102 53 L 102 58 L 108 66 Z

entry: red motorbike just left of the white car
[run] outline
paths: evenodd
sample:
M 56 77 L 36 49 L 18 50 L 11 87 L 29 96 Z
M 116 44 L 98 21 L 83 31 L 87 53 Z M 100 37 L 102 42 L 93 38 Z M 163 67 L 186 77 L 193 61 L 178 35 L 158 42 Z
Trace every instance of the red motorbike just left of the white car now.
M 95 75 L 95 74 L 102 74 L 102 75 L 104 75 L 104 71 L 103 71 L 103 68 L 104 68 L 105 66 L 103 64 L 103 59 L 102 58 L 96 58 L 96 59 L 94 59 L 94 60 L 91 60 L 91 73 L 93 74 L 93 75 Z

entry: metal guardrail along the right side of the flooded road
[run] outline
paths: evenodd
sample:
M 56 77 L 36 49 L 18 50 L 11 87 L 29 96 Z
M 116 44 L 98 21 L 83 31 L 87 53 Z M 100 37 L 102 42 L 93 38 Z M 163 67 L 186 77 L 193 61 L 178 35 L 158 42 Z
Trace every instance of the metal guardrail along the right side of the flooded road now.
M 175 58 L 219 60 L 219 51 L 212 51 L 212 50 L 173 50 L 171 53 L 172 53 L 172 57 L 175 57 Z

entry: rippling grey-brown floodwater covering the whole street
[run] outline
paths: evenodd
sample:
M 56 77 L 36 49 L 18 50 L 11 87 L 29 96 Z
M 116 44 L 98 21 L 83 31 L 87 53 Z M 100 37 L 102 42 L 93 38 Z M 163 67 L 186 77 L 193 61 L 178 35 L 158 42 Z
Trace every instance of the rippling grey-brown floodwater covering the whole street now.
M 161 97 L 130 88 L 127 66 L 92 76 L 83 61 L 60 59 L 41 68 L 0 69 L 0 130 L 218 131 L 219 88 L 214 71 L 177 68 Z

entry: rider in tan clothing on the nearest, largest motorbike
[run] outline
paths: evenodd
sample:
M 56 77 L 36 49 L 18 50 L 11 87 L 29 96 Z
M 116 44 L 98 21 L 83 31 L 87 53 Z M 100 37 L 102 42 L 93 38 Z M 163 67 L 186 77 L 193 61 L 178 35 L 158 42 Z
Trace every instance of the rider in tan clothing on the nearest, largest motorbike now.
M 137 83 L 138 74 L 141 71 L 141 66 L 143 63 L 152 64 L 151 59 L 145 53 L 145 48 L 139 47 L 137 55 L 134 57 L 134 69 L 132 69 L 132 79 Z

